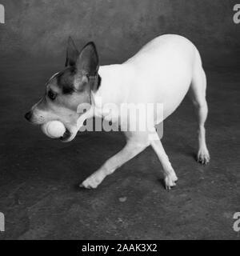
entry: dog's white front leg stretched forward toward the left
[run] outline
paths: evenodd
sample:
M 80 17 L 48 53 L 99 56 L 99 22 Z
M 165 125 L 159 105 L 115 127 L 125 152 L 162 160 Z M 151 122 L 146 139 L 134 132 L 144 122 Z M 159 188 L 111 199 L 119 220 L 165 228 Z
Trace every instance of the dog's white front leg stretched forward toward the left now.
M 142 137 L 138 133 L 128 133 L 126 146 L 118 154 L 108 159 L 99 170 L 90 175 L 89 178 L 86 178 L 80 186 L 87 189 L 96 188 L 107 175 L 114 173 L 114 170 L 134 158 L 149 145 L 150 142 L 147 139 L 147 135 Z

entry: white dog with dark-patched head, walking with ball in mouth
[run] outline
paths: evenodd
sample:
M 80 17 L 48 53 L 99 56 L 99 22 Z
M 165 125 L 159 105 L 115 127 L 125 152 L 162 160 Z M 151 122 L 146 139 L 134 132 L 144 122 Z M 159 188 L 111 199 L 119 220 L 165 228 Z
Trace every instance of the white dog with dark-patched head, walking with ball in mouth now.
M 161 102 L 163 117 L 154 116 L 154 125 L 163 122 L 177 109 L 186 94 L 190 95 L 198 116 L 198 162 L 206 164 L 210 154 L 206 147 L 205 122 L 208 113 L 206 102 L 206 74 L 197 48 L 188 39 L 175 34 L 154 38 L 143 46 L 134 57 L 122 64 L 99 66 L 98 51 L 94 42 L 89 42 L 79 52 L 72 38 L 68 40 L 66 68 L 54 74 L 46 82 L 46 94 L 35 104 L 25 117 L 33 124 L 42 125 L 58 120 L 66 127 L 62 142 L 73 140 L 86 118 L 106 116 L 97 102 L 148 103 Z M 84 113 L 78 113 L 79 104 L 94 106 Z M 99 111 L 98 111 L 99 110 Z M 100 114 L 99 114 L 100 113 Z M 154 115 L 154 113 L 153 113 Z M 118 118 L 118 116 L 117 116 Z M 130 117 L 121 117 L 123 123 Z M 128 120 L 129 122 L 136 122 Z M 81 125 L 80 125 L 81 126 Z M 126 146 L 108 159 L 80 186 L 96 188 L 107 175 L 152 146 L 162 164 L 167 190 L 176 185 L 177 175 L 155 132 L 150 139 L 149 132 L 126 130 Z

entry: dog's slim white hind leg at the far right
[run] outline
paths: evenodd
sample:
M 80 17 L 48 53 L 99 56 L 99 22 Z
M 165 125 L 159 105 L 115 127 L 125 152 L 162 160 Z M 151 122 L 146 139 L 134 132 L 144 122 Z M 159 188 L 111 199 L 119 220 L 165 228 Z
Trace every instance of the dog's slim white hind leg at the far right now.
M 190 98 L 198 117 L 198 162 L 206 164 L 210 161 L 210 154 L 206 147 L 205 122 L 208 113 L 206 102 L 206 74 L 202 69 L 202 63 L 198 54 L 194 66 L 193 79 L 189 91 Z

